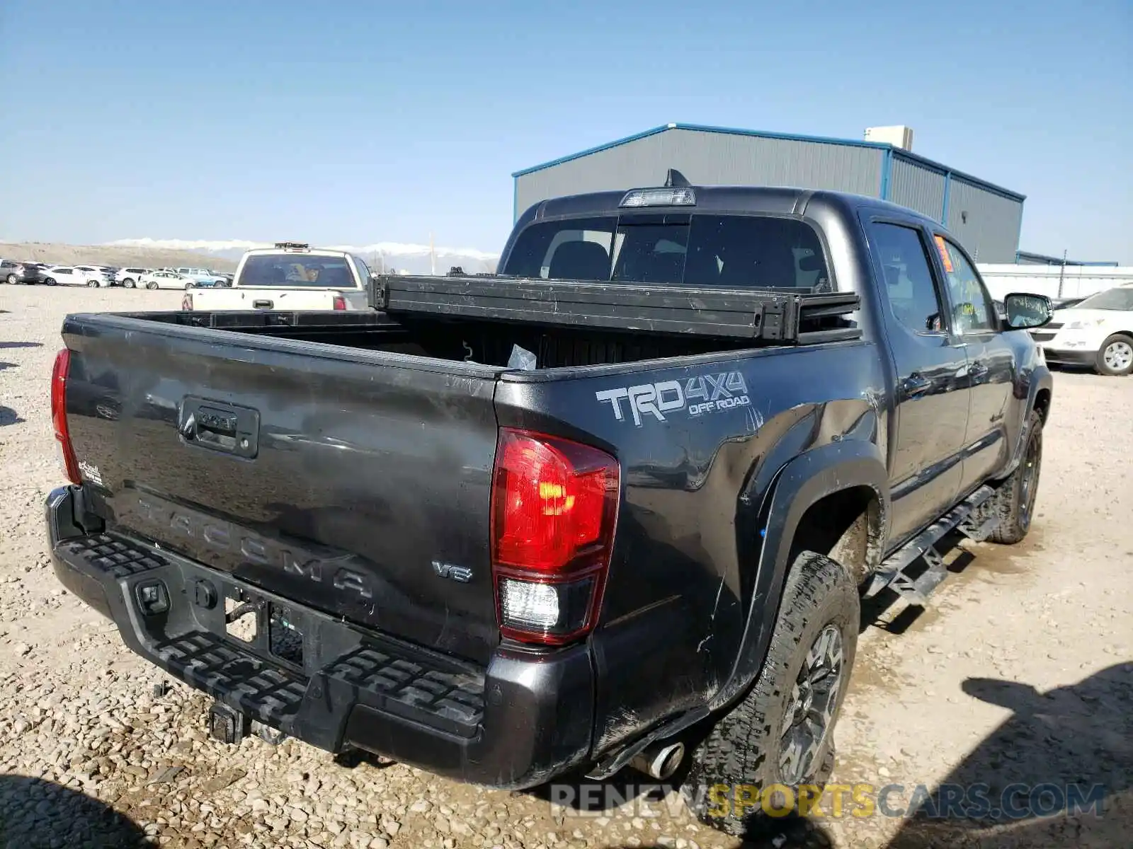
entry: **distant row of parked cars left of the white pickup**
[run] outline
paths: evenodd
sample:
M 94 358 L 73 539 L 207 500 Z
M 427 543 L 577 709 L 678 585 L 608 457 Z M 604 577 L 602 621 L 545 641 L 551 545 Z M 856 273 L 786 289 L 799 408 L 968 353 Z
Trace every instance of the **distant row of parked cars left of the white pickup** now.
M 231 285 L 232 275 L 208 268 L 118 268 L 109 265 L 57 265 L 0 259 L 0 281 L 11 285 L 207 289 Z

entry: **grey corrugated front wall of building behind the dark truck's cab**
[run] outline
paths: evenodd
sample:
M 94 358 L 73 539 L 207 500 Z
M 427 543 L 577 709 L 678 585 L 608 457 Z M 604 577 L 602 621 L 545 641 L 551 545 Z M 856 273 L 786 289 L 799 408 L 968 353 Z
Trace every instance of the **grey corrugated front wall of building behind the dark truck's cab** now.
M 881 151 L 852 145 L 671 129 L 517 178 L 516 214 L 548 197 L 657 186 L 670 168 L 700 185 L 799 186 L 876 197 L 881 158 Z

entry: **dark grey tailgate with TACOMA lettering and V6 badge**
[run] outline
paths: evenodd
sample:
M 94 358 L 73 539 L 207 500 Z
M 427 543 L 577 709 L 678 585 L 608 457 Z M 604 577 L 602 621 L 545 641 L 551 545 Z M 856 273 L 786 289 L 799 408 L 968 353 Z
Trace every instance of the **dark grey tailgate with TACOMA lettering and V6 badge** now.
M 117 316 L 63 337 L 110 529 L 487 660 L 494 369 Z

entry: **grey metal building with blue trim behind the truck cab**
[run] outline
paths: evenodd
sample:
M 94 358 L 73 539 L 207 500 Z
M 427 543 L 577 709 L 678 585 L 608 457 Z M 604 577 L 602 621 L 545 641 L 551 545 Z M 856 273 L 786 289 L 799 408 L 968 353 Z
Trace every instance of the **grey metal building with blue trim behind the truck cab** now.
M 870 195 L 947 226 L 979 263 L 1013 263 L 1025 197 L 877 142 L 670 123 L 517 171 L 518 217 L 539 200 L 656 186 L 675 168 L 692 183 L 798 186 Z

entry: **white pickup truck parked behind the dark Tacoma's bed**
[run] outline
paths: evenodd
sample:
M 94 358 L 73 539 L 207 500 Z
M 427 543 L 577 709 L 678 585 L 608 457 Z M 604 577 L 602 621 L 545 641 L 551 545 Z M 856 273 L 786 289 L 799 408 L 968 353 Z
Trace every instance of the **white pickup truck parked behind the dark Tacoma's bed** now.
M 240 258 L 232 285 L 194 289 L 185 310 L 363 310 L 369 309 L 370 271 L 342 250 L 276 242 Z

